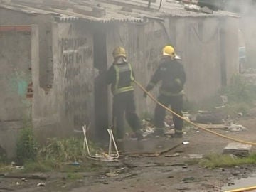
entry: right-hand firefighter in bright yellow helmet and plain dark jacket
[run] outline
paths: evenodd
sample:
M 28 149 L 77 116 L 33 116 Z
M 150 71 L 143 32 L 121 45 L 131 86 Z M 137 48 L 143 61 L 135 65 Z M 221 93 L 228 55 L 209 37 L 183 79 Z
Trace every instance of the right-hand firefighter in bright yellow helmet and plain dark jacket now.
M 158 82 L 161 82 L 158 101 L 166 107 L 171 105 L 171 110 L 182 116 L 183 85 L 186 82 L 186 73 L 178 59 L 180 57 L 176 55 L 172 46 L 164 46 L 159 67 L 146 86 L 146 90 L 152 90 Z M 146 97 L 146 93 L 144 93 L 144 97 Z M 165 114 L 166 110 L 160 105 L 156 105 L 154 110 L 156 135 L 164 135 Z M 182 137 L 183 120 L 176 117 L 176 115 L 173 115 L 173 119 L 175 133 L 172 134 L 172 137 Z

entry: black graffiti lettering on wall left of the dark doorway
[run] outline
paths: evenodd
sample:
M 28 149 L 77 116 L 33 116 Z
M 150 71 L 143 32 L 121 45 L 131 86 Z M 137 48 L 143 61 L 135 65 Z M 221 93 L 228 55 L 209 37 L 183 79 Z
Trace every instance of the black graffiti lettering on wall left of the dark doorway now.
M 59 40 L 64 72 L 65 114 L 75 126 L 87 124 L 93 95 L 92 38 L 69 24 Z M 68 32 L 68 33 L 67 33 Z

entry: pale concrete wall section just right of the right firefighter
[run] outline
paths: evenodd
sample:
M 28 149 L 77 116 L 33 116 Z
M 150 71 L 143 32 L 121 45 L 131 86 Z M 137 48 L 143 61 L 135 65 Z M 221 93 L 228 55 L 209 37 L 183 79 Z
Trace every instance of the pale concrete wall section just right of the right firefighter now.
M 178 18 L 176 48 L 186 70 L 186 97 L 193 102 L 220 89 L 219 21 L 216 18 Z

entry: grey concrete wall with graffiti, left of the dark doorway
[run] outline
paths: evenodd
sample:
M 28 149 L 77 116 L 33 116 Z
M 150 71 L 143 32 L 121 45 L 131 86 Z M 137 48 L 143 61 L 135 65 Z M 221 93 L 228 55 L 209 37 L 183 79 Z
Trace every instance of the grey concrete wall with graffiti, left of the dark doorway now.
M 0 111 L 0 137 L 14 137 L 11 142 L 0 138 L 0 142 L 8 153 L 12 150 L 10 156 L 15 149 L 14 129 L 20 129 L 24 119 L 32 119 L 39 142 L 47 137 L 73 134 L 73 129 L 81 129 L 83 124 L 93 127 L 95 123 L 90 26 L 78 22 L 53 23 L 51 16 L 0 9 L 0 26 L 33 23 L 38 25 L 38 30 L 31 32 L 33 42 L 30 33 L 0 36 L 6 44 L 0 51 L 0 85 L 5 90 L 1 92 L 4 107 Z M 28 89 L 33 90 L 30 102 L 26 98 Z M 31 116 L 25 115 L 25 110 Z

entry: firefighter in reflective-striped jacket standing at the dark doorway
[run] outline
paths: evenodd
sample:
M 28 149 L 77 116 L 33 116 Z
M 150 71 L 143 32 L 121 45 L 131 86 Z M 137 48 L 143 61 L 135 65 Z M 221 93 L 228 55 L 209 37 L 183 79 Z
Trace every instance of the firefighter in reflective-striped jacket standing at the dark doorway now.
M 107 84 L 111 84 L 113 94 L 113 125 L 117 139 L 124 137 L 124 114 L 137 136 L 142 139 L 141 124 L 134 102 L 134 74 L 132 65 L 127 62 L 127 54 L 122 47 L 114 48 L 114 62 L 107 70 Z

